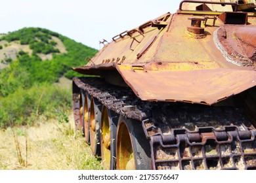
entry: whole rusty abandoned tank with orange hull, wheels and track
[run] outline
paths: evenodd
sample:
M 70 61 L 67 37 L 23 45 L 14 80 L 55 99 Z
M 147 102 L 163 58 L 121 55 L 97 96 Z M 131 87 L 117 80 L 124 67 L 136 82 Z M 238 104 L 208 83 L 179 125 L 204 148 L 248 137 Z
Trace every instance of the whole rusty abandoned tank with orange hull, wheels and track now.
M 181 1 L 73 68 L 75 125 L 104 169 L 256 169 L 255 7 Z

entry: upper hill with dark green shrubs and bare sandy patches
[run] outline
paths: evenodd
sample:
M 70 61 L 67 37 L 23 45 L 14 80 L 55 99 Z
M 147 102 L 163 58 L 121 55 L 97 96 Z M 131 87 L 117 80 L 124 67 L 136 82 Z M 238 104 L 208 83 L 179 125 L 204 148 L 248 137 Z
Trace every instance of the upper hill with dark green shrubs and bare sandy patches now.
M 0 69 L 18 59 L 28 71 L 37 71 L 30 72 L 36 80 L 56 81 L 62 75 L 74 77 L 76 74 L 70 68 L 85 65 L 85 58 L 93 57 L 96 52 L 48 29 L 25 27 L 1 35 Z M 39 73 L 45 73 L 47 78 Z

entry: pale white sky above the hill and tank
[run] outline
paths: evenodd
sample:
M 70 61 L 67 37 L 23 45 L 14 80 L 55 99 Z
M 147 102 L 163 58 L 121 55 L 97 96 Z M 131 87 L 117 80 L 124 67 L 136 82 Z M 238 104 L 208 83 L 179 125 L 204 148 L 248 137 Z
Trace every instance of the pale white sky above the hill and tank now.
M 99 41 L 174 13 L 180 0 L 0 0 L 0 33 L 41 27 L 91 48 Z M 102 46 L 101 46 L 102 47 Z

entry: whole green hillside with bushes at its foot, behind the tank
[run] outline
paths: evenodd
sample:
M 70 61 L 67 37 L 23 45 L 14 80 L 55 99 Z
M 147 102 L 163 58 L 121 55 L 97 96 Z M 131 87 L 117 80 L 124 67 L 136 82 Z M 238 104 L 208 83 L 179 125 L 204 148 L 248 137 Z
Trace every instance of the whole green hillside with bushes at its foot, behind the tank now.
M 24 28 L 0 35 L 0 127 L 31 124 L 41 114 L 65 116 L 71 91 L 54 85 L 78 74 L 97 50 L 53 31 Z

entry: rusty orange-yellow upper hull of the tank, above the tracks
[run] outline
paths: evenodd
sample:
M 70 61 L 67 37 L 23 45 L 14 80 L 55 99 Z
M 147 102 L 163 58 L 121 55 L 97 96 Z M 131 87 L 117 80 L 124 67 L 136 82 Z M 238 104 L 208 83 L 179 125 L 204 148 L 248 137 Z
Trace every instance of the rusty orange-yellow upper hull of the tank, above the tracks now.
M 186 3 L 204 5 L 202 14 L 183 13 Z M 144 101 L 212 105 L 256 86 L 255 14 L 213 12 L 208 5 L 238 8 L 236 3 L 183 1 L 177 14 L 117 35 L 74 70 L 104 78 L 112 75 L 105 71 L 115 71 Z

